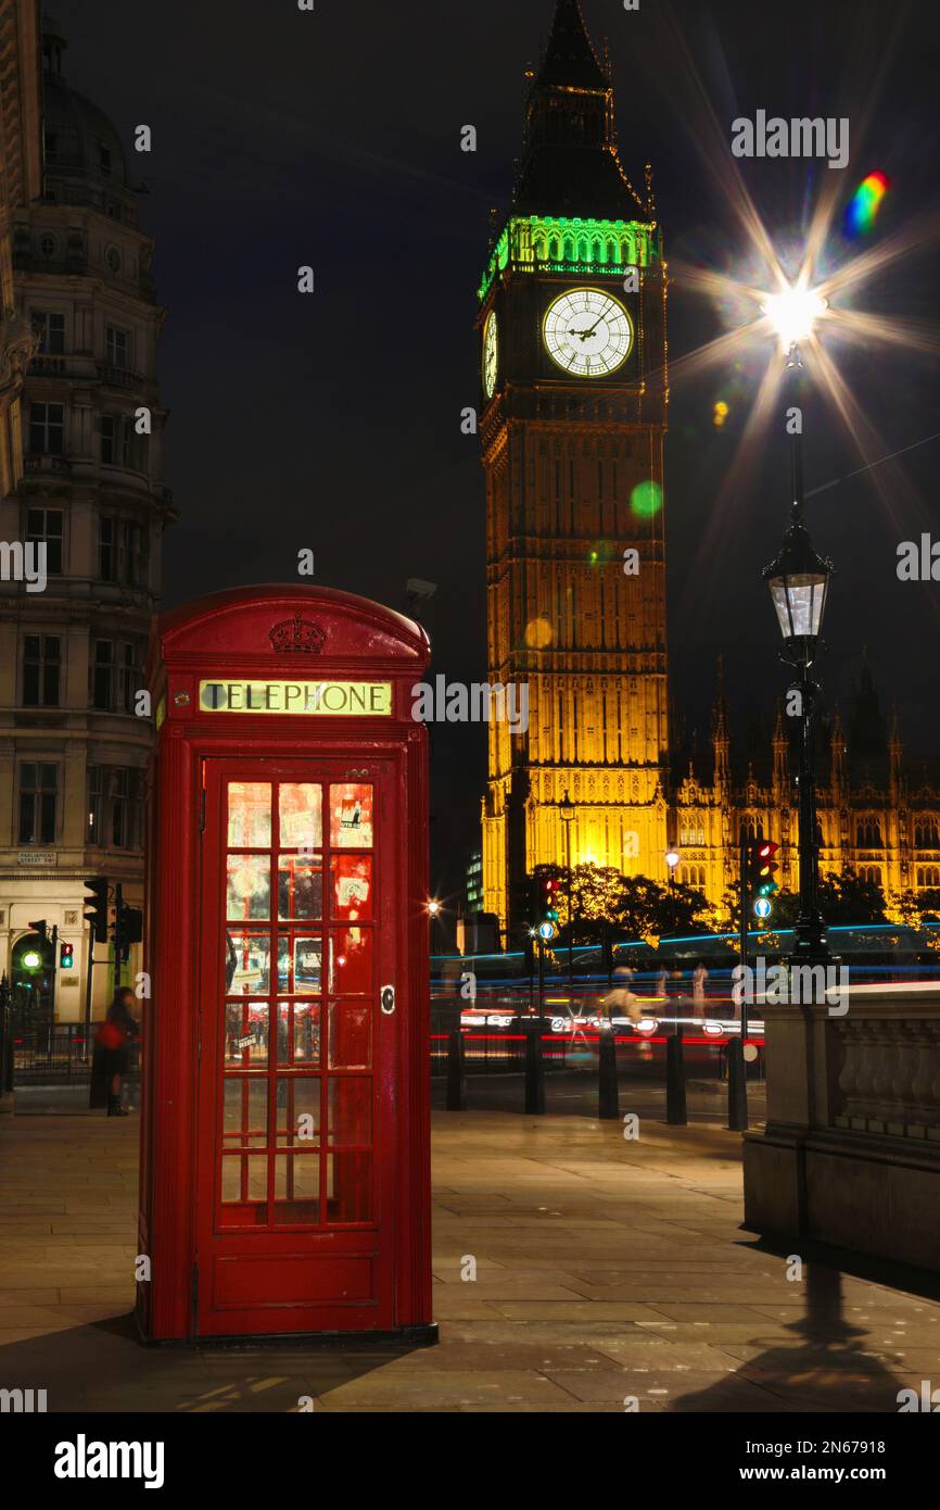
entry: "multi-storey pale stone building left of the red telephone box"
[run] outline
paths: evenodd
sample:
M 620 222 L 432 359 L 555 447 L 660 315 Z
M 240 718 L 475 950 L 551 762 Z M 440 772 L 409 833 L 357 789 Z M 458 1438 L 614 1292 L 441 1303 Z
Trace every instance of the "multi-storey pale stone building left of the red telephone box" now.
M 0 963 L 26 1016 L 80 1021 L 113 980 L 98 945 L 86 1003 L 84 882 L 121 882 L 134 906 L 143 888 L 152 720 L 136 693 L 174 516 L 163 310 L 131 143 L 69 86 L 65 41 L 48 20 L 41 32 L 35 0 L 0 0 Z M 17 580 L 17 547 L 33 562 L 45 548 L 42 590 Z M 38 918 L 75 962 L 54 991 L 33 977 L 30 995 Z

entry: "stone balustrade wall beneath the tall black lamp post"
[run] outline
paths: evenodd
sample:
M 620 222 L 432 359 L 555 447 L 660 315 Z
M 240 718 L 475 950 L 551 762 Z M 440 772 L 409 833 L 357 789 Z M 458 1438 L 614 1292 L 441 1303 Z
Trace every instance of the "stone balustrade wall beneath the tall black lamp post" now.
M 745 1226 L 940 1271 L 940 983 L 763 1007 L 766 1123 Z

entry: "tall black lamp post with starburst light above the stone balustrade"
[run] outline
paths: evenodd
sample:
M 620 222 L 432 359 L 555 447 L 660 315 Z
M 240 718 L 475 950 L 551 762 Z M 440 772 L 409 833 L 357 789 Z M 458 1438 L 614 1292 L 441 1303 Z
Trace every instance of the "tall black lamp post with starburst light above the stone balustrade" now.
M 763 307 L 777 328 L 786 352 L 786 367 L 795 384 L 803 371 L 798 341 L 809 337 L 825 300 L 806 290 L 777 294 Z M 819 849 L 816 843 L 816 775 L 813 761 L 813 714 L 819 687 L 810 670 L 819 651 L 822 615 L 833 563 L 818 556 L 803 518 L 803 424 L 791 426 L 791 519 L 780 551 L 763 569 L 777 622 L 783 636 L 780 658 L 794 667 L 800 714 L 800 915 L 791 963 L 828 965 L 831 954 L 825 921 L 819 911 Z

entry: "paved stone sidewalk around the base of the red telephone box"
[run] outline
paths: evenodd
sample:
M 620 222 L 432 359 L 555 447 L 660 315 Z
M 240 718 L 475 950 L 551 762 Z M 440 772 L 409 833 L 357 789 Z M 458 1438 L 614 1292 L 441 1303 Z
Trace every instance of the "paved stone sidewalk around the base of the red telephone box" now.
M 940 1377 L 940 1305 L 819 1264 L 789 1282 L 739 1229 L 735 1134 L 640 1132 L 435 1116 L 436 1348 L 163 1350 L 127 1321 L 137 1120 L 3 1117 L 0 1388 L 97 1412 L 893 1413 Z

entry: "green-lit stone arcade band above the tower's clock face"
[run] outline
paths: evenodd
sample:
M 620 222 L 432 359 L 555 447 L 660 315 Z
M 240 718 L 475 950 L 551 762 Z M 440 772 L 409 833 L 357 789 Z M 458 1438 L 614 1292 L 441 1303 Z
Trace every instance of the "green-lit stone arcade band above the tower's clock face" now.
M 658 228 L 641 220 L 515 214 L 496 242 L 477 294 L 486 299 L 510 263 L 516 272 L 596 275 L 649 267 L 658 257 Z

